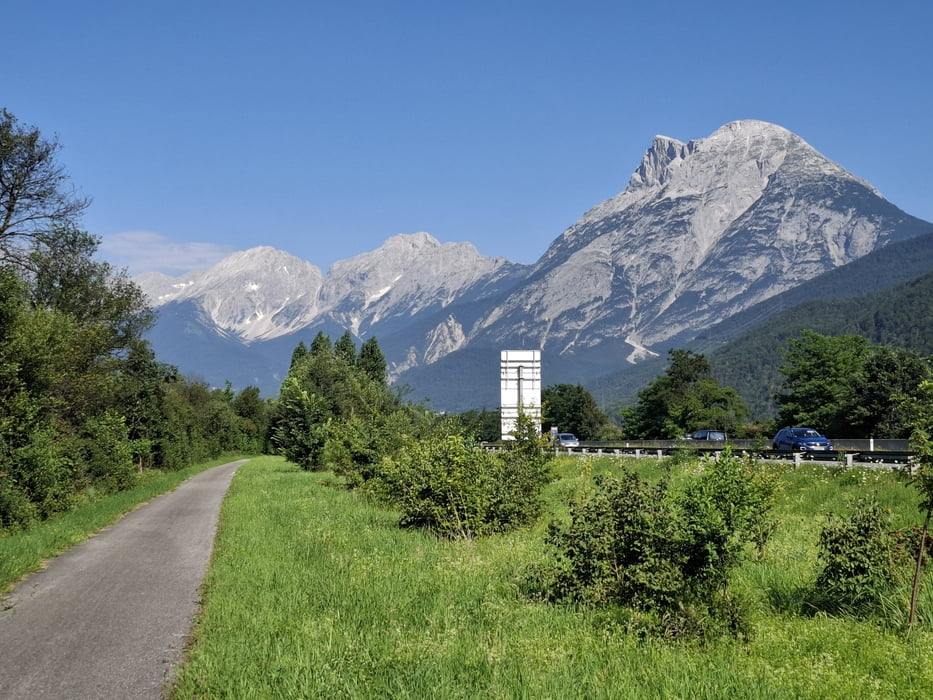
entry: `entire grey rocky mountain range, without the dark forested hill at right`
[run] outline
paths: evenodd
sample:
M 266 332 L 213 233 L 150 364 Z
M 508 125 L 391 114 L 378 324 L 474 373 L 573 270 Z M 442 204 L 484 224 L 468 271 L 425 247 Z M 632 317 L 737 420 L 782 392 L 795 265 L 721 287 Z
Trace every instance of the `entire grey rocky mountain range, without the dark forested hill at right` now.
M 583 384 L 608 404 L 644 381 L 625 377 L 646 360 L 725 342 L 711 329 L 764 321 L 833 271 L 861 289 L 850 264 L 930 232 L 799 136 L 745 120 L 688 143 L 655 137 L 625 189 L 532 265 L 416 233 L 326 275 L 259 247 L 136 281 L 159 311 L 157 356 L 214 385 L 275 395 L 299 341 L 350 330 L 375 336 L 390 379 L 438 410 L 496 407 L 499 351 L 523 348 L 542 350 L 545 386 Z

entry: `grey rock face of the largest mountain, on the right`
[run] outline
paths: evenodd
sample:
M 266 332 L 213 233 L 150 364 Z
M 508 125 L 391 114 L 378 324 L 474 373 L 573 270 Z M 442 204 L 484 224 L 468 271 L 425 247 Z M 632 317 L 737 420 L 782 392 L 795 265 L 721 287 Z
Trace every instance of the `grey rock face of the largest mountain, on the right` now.
M 781 127 L 658 136 L 625 191 L 554 241 L 470 339 L 564 354 L 617 338 L 634 361 L 923 230 Z

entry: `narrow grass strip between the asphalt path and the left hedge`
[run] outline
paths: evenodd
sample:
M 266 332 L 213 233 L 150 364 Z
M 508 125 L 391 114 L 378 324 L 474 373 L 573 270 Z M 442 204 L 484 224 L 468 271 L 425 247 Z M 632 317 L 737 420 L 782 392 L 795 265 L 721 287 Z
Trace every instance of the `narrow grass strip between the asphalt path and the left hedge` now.
M 238 459 L 227 456 L 174 472 L 144 472 L 127 491 L 88 498 L 78 508 L 38 523 L 28 530 L 0 534 L 0 594 L 43 562 L 72 547 L 140 504 L 171 491 L 185 479 L 210 467 Z

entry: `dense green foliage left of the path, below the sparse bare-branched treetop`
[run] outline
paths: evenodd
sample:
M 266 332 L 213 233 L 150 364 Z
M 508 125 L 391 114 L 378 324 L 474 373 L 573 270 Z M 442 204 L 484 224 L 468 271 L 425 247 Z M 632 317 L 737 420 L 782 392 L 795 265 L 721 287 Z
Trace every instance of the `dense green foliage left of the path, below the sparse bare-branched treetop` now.
M 90 255 L 93 246 L 82 250 Z M 63 261 L 56 268 L 74 273 L 71 288 L 96 290 L 80 307 L 70 295 L 40 294 L 36 285 L 48 279 L 43 263 L 28 279 L 0 269 L 3 529 L 68 510 L 85 493 L 127 488 L 143 468 L 178 469 L 261 447 L 265 432 L 259 419 L 252 442 L 244 439 L 247 424 L 232 394 L 187 382 L 156 362 L 137 335 L 146 311 L 136 292 L 127 287 L 124 297 L 119 284 L 82 281 L 101 268 L 78 255 L 71 260 L 70 268 Z M 101 295 L 107 299 L 91 303 Z

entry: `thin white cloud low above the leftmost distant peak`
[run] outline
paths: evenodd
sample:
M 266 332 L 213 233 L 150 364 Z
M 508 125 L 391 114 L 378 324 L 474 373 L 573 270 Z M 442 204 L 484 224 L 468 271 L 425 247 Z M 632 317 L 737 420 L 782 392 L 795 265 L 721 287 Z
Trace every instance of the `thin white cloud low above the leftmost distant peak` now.
M 99 249 L 100 257 L 116 267 L 125 267 L 131 276 L 161 272 L 171 277 L 211 267 L 232 252 L 228 246 L 178 243 L 148 231 L 103 236 Z

